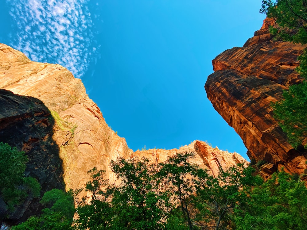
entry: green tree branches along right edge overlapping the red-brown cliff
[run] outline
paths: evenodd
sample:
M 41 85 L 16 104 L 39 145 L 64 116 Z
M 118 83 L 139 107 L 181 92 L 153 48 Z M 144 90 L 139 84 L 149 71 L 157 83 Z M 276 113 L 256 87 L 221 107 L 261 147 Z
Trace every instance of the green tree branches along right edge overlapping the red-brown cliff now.
M 270 32 L 278 39 L 307 44 L 307 2 L 305 0 L 263 0 L 261 13 L 276 18 L 278 27 L 271 27 Z M 298 57 L 301 64 L 298 73 L 307 79 L 307 51 Z M 283 99 L 272 103 L 274 118 L 279 121 L 287 134 L 289 143 L 298 148 L 307 148 L 307 82 L 292 85 L 284 90 Z

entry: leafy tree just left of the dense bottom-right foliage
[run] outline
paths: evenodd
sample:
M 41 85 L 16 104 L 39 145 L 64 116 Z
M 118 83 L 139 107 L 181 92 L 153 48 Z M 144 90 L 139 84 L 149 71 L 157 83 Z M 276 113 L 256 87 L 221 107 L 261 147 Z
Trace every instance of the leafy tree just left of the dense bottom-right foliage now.
M 234 210 L 240 209 L 248 199 L 247 194 L 242 192 L 243 186 L 250 187 L 262 182 L 261 178 L 252 176 L 254 171 L 252 167 L 238 165 L 226 170 L 220 168 L 216 178 L 208 176 L 197 190 L 194 201 L 200 219 L 210 222 L 216 230 L 226 229 L 231 223 Z

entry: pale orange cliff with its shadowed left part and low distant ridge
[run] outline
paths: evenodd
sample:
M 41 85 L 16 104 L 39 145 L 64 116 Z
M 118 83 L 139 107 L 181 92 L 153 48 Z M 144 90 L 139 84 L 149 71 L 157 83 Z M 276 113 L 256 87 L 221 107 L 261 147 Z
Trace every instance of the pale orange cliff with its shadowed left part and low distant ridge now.
M 80 79 L 57 64 L 30 61 L 23 53 L 0 44 L 0 141 L 28 155 L 26 175 L 37 178 L 42 194 L 52 188 L 76 189 L 88 181 L 93 167 L 105 170 L 121 156 L 149 157 L 152 150 L 133 152 L 105 122 L 97 105 L 88 98 Z M 178 151 L 196 151 L 193 162 L 217 174 L 246 161 L 236 153 L 211 148 L 201 141 L 172 150 L 155 150 L 156 160 Z M 11 223 L 25 220 L 39 209 L 39 199 L 28 200 L 11 216 Z

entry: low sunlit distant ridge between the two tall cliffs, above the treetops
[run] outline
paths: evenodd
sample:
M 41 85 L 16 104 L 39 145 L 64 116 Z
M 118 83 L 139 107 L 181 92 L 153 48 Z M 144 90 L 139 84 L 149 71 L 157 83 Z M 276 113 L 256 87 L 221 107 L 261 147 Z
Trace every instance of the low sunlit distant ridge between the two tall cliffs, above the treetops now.
M 175 155 L 180 152 L 195 152 L 195 158 L 189 159 L 190 163 L 196 164 L 201 168 L 208 169 L 212 172 L 214 176 L 219 173 L 219 168 L 227 168 L 231 165 L 245 164 L 247 166 L 248 162 L 238 153 L 230 153 L 228 151 L 223 151 L 216 148 L 212 148 L 209 144 L 204 141 L 195 140 L 189 145 L 182 146 L 177 149 L 148 149 L 142 151 L 135 151 L 131 158 L 133 157 L 146 157 L 150 159 L 153 163 L 160 163 L 167 160 L 168 157 Z

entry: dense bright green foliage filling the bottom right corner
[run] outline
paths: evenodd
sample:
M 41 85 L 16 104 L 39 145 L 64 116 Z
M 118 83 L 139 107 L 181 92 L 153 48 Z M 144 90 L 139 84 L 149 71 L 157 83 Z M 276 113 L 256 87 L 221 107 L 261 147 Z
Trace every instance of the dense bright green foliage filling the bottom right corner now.
M 260 186 L 248 190 L 249 199 L 234 210 L 238 230 L 307 228 L 307 189 L 305 182 L 285 172 L 272 175 Z

